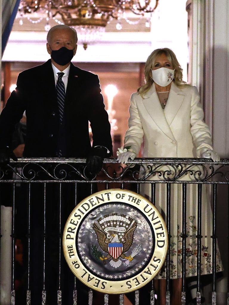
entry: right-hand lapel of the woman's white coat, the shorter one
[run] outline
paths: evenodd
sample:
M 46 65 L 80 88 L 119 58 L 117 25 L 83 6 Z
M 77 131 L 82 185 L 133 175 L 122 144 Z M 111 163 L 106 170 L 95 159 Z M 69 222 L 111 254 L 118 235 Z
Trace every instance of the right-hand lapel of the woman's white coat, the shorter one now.
M 180 106 L 182 105 L 183 101 L 184 93 L 172 82 L 169 91 L 169 98 L 164 109 L 164 114 L 169 126 L 171 125 L 174 117 L 176 116 L 176 113 L 180 109 Z

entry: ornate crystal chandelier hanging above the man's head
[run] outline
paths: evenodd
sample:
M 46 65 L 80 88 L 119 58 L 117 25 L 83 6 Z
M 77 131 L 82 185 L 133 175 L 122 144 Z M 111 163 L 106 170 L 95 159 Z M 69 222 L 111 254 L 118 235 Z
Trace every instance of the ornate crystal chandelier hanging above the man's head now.
M 50 29 L 49 21 L 74 27 L 79 41 L 86 49 L 89 43 L 99 41 L 106 25 L 116 19 L 116 29 L 121 30 L 121 19 L 136 24 L 147 15 L 146 27 L 150 27 L 151 14 L 159 0 L 21 0 L 18 10 L 20 25 L 25 16 L 31 23 L 46 18 L 45 30 Z M 129 20 L 129 12 L 138 15 L 137 20 Z M 32 16 L 32 17 L 31 17 Z M 58 16 L 61 17 L 57 18 Z M 33 19 L 34 17 L 37 17 Z

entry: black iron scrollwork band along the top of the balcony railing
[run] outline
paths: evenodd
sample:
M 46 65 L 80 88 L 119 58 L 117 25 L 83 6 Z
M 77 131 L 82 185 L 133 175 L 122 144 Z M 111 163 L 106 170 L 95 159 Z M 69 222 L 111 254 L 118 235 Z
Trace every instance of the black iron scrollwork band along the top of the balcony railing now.
M 127 165 L 115 158 L 105 159 L 97 176 L 86 168 L 85 159 L 26 159 L 20 158 L 0 168 L 0 181 L 87 181 L 87 182 L 149 182 L 160 183 L 228 183 L 229 160 L 206 159 L 146 159 L 136 158 Z

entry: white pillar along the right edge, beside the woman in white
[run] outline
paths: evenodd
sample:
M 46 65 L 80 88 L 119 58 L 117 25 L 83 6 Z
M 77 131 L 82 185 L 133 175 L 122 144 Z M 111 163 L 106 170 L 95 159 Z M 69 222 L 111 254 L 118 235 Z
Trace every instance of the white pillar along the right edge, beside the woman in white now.
M 189 0 L 190 2 L 190 0 Z M 213 147 L 221 158 L 229 157 L 229 1 L 192 0 L 192 84 L 202 97 L 205 121 L 212 131 Z M 219 175 L 218 175 L 218 178 Z M 227 300 L 227 188 L 218 186 L 218 242 L 224 278 L 217 284 L 217 305 Z M 220 225 L 219 225 L 220 224 Z M 209 296 L 211 295 L 209 285 Z M 207 293 L 205 288 L 205 293 Z M 208 294 L 208 293 L 207 293 Z

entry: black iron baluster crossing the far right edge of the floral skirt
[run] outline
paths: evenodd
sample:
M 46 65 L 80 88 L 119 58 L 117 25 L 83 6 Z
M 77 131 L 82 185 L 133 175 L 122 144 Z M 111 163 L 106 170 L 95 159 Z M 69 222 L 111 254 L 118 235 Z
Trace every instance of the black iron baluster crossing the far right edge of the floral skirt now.
M 216 197 L 217 184 L 213 184 L 213 226 L 212 226 L 212 305 L 216 305 Z

